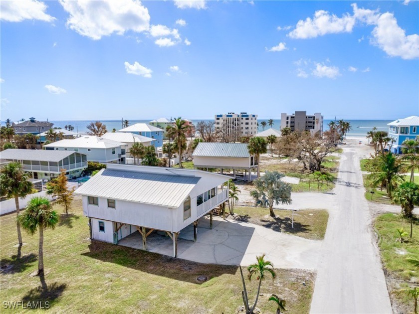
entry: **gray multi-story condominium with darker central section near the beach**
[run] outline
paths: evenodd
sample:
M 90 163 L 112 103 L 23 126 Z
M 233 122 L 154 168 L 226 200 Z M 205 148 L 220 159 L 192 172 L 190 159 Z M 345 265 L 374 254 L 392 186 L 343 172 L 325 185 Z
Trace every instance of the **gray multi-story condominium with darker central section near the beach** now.
M 314 115 L 307 115 L 305 111 L 296 111 L 292 115 L 281 113 L 281 130 L 290 128 L 291 131 L 310 131 L 311 134 L 320 133 L 323 135 L 323 116 L 317 112 Z

